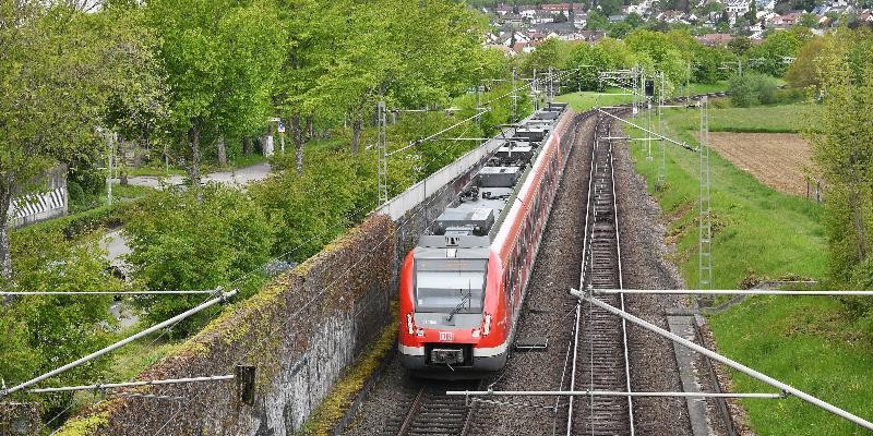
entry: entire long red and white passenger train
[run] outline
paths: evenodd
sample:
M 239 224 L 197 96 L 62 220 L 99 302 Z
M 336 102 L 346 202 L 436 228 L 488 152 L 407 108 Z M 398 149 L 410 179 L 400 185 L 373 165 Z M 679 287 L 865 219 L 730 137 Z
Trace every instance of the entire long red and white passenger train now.
M 526 119 L 406 256 L 404 366 L 475 375 L 506 364 L 573 117 L 566 105 L 551 105 Z

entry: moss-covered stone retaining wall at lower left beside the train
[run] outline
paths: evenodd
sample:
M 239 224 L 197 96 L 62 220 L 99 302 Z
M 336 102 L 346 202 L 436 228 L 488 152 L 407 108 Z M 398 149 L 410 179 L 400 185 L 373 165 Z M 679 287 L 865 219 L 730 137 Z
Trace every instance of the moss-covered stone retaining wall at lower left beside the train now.
M 394 223 L 360 227 L 226 311 L 140 379 L 234 374 L 256 366 L 254 405 L 234 380 L 142 388 L 174 399 L 104 401 L 63 435 L 291 435 L 343 370 L 392 322 Z

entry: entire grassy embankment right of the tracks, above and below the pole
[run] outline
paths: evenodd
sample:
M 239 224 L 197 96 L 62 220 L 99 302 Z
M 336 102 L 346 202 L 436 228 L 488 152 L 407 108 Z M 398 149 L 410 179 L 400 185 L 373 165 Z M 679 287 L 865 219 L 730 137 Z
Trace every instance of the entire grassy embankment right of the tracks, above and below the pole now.
M 805 105 L 753 109 L 710 109 L 710 129 L 731 132 L 797 132 Z M 670 110 L 671 137 L 695 143 L 698 111 Z M 632 135 L 638 132 L 629 131 Z M 657 148 L 656 148 L 657 149 Z M 673 261 L 689 287 L 697 283 L 697 198 L 699 157 L 667 148 L 667 189 L 655 192 L 659 155 L 646 160 L 632 146 L 637 171 L 648 182 L 669 221 L 668 238 L 677 244 Z M 738 170 L 717 154 L 711 157 L 715 234 L 715 288 L 738 288 L 755 277 L 826 274 L 822 208 L 778 193 Z M 861 416 L 873 416 L 873 347 L 829 298 L 756 296 L 709 317 L 719 350 L 728 356 Z M 772 391 L 733 374 L 734 390 Z M 751 424 L 761 435 L 866 434 L 801 400 L 745 400 Z

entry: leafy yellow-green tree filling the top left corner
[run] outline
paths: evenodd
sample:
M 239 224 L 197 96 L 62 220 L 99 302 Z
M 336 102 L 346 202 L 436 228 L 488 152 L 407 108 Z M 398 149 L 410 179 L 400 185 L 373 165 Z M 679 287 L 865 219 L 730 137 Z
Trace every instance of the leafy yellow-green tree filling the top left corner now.
M 0 278 L 12 277 L 9 210 L 57 161 L 94 161 L 110 104 L 129 105 L 153 74 L 152 36 L 109 12 L 39 1 L 0 4 Z M 117 21 L 110 21 L 115 17 Z M 128 108 L 128 112 L 135 108 Z

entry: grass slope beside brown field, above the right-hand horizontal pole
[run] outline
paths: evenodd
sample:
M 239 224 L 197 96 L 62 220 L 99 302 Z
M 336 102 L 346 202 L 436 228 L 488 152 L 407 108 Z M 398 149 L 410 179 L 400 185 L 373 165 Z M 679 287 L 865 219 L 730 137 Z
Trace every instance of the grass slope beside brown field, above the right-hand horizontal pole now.
M 768 108 L 767 108 L 768 109 Z M 731 109 L 732 110 L 732 109 Z M 670 110 L 668 136 L 696 144 L 698 111 Z M 710 111 L 710 120 L 720 122 Z M 751 116 L 750 116 L 751 117 Z M 638 132 L 632 132 L 638 136 Z M 650 192 L 659 166 L 646 160 L 641 144 L 631 145 L 637 171 L 648 181 Z M 699 156 L 678 146 L 667 147 L 667 189 L 655 193 L 663 213 L 672 218 L 668 235 L 678 244 L 678 265 L 690 286 L 697 282 L 697 198 Z M 738 170 L 716 153 L 710 158 L 711 198 L 715 235 L 713 258 L 715 287 L 733 289 L 749 276 L 798 275 L 822 278 L 826 270 L 821 206 L 803 198 L 781 194 Z

